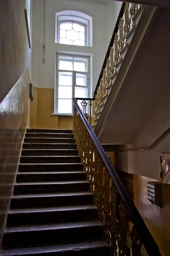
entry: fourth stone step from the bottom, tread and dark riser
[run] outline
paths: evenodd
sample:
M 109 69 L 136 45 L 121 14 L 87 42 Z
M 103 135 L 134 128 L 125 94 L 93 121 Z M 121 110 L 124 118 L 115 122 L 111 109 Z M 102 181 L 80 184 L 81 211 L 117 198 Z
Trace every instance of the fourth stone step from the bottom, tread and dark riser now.
M 55 207 L 61 205 L 74 204 L 92 204 L 93 194 L 86 192 L 65 192 L 53 194 L 27 194 L 27 195 L 13 195 L 10 207 L 24 208 L 24 207 Z

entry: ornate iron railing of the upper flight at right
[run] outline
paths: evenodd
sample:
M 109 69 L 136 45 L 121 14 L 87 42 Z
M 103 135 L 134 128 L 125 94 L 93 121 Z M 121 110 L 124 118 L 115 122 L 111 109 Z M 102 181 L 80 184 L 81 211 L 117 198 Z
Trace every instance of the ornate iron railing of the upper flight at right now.
M 117 69 L 122 62 L 122 55 L 129 45 L 129 36 L 132 31 L 135 30 L 135 17 L 142 9 L 141 4 L 123 3 L 121 6 L 118 20 L 115 25 L 115 29 L 112 34 L 112 38 L 104 59 L 104 64 L 101 69 L 101 73 L 95 88 L 93 98 L 76 98 L 84 101 L 90 101 L 90 104 L 94 101 L 94 116 L 95 120 L 98 119 L 101 109 L 104 106 L 104 102 L 108 96 L 108 91 L 112 87 L 112 79 L 117 75 Z M 87 109 L 91 109 L 92 105 L 83 113 L 87 114 Z M 91 112 L 92 113 L 92 112 Z M 91 116 L 91 114 L 88 114 Z M 89 118 L 91 124 L 91 118 Z

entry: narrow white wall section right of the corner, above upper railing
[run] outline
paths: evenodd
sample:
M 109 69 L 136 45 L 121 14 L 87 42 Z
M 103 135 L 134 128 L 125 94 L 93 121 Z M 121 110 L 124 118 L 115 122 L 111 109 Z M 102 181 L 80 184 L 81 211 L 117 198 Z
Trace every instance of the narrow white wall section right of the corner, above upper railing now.
M 109 46 L 110 39 L 115 28 L 116 21 L 121 9 L 122 3 L 117 1 L 112 1 L 106 6 L 106 15 L 107 15 L 107 47 Z

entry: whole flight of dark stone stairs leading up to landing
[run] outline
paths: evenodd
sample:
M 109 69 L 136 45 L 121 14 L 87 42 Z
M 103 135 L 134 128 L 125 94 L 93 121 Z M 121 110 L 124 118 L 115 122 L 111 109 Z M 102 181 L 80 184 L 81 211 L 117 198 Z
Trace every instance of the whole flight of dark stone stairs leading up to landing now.
M 1 255 L 109 255 L 71 130 L 27 129 Z

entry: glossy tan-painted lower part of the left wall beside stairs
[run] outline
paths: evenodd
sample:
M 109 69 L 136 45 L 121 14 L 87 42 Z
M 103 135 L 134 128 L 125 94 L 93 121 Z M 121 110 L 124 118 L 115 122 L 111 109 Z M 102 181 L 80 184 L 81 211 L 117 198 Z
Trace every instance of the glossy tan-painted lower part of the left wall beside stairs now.
M 29 127 L 29 71 L 20 77 L 0 103 L 0 244 L 6 224 L 20 150 Z

